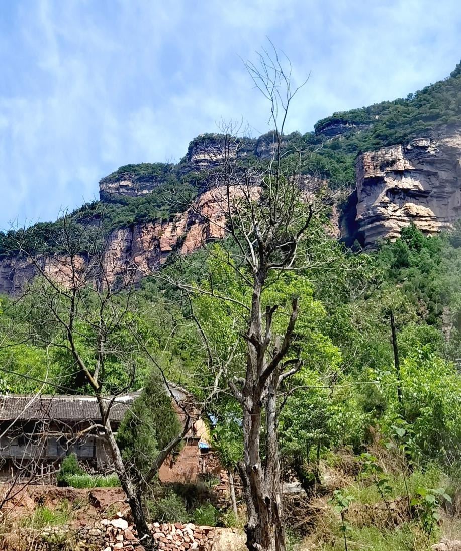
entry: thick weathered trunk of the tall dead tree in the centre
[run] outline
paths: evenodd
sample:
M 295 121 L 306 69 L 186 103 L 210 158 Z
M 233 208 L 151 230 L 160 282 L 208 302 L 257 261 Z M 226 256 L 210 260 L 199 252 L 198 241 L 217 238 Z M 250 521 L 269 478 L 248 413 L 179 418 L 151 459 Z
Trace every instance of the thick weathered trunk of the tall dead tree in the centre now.
M 262 277 L 255 277 L 251 305 L 251 323 L 247 339 L 247 368 L 245 383 L 240 391 L 229 381 L 243 411 L 243 464 L 239 468 L 245 488 L 248 523 L 245 526 L 246 546 L 249 551 L 276 549 L 285 551 L 283 506 L 280 487 L 280 465 L 277 444 L 277 392 L 280 382 L 299 368 L 299 360 L 290 360 L 292 369 L 282 363 L 290 345 L 298 312 L 297 299 L 292 302 L 292 312 L 283 342 L 271 344 L 272 316 L 276 307 L 266 307 L 263 325 L 261 314 Z M 261 461 L 261 425 L 265 417 L 266 457 Z

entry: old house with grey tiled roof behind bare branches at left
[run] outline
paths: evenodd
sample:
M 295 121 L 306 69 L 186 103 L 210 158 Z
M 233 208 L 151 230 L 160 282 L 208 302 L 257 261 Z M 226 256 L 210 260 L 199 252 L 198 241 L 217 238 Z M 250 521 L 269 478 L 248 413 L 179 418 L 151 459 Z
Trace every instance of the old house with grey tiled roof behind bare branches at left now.
M 134 398 L 114 398 L 109 417 L 115 431 Z M 52 473 L 70 452 L 88 468 L 102 470 L 110 460 L 99 419 L 92 396 L 0 396 L 0 474 Z

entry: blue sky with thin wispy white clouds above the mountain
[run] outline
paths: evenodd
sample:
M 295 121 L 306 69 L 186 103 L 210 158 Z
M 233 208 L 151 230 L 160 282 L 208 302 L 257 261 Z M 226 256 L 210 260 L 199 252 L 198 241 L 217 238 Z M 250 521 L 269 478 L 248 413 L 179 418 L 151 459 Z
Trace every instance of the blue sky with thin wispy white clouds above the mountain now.
M 456 0 L 0 0 L 0 228 L 54 219 L 120 165 L 179 160 L 221 117 L 266 132 L 242 60 L 312 72 L 288 129 L 446 77 Z

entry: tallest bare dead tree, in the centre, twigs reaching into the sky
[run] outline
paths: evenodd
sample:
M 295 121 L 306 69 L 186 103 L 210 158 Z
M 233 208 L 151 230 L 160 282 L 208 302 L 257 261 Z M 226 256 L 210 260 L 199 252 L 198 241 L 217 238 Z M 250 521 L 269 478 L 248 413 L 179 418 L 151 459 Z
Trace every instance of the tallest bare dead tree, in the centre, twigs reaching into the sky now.
M 226 288 L 213 287 L 208 283 L 212 278 L 205 273 L 203 280 L 207 284 L 202 287 L 179 280 L 177 274 L 167 279 L 190 296 L 207 295 L 224 303 L 237 303 L 245 312 L 240 320 L 245 368 L 243 376 L 228 379 L 228 388 L 242 412 L 243 457 L 238 462 L 238 472 L 248 512 L 246 545 L 250 551 L 283 551 L 277 426 L 281 388 L 302 365 L 291 346 L 299 301 L 296 296 L 291 298 L 285 329 L 280 331 L 274 327 L 274 315 L 280 305 L 265 305 L 263 295 L 284 272 L 304 269 L 315 261 L 318 240 L 313 236 L 323 231 L 329 199 L 319 179 L 303 174 L 303 151 L 287 143 L 284 134 L 292 100 L 305 82 L 293 88 L 291 64 L 275 48 L 263 51 L 259 63 L 249 62 L 246 68 L 269 101 L 269 154 L 259 163 L 246 163 L 242 152 L 245 142 L 236 136 L 234 123 L 223 125 L 216 137 L 213 163 L 208 169 L 201 168 L 207 201 L 213 208 L 208 213 L 197 208 L 196 214 L 209 225 L 221 228 L 223 235 L 232 236 L 232 251 L 228 251 L 227 261 L 223 255 L 223 261 L 248 291 L 249 299 L 245 301 L 227 293 Z M 212 247 L 208 254 L 213 255 Z M 192 310 L 191 316 L 207 349 L 208 368 L 212 368 L 219 363 L 211 357 L 215 350 Z

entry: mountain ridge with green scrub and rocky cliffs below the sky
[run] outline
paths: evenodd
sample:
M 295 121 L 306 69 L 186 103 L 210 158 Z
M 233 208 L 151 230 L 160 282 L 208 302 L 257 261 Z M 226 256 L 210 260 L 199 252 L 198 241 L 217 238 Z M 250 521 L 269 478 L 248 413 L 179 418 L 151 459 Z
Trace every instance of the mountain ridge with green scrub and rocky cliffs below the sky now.
M 203 171 L 222 161 L 222 136 L 205 133 L 192 139 L 175 165 L 121 166 L 100 180 L 100 200 L 76 209 L 71 217 L 88 217 L 103 206 L 120 264 L 137 258 L 135 263 L 149 269 L 173 249 L 190 252 L 222 236 L 197 215 L 203 208 L 211 209 L 212 217 L 217 213 L 206 196 Z M 274 135 L 236 140 L 230 154 L 252 163 L 270 156 Z M 351 190 L 335 217 L 336 233 L 346 245 L 357 240 L 374 246 L 398 236 L 411 222 L 426 233 L 449 227 L 461 203 L 461 64 L 447 79 L 406 99 L 336 112 L 318 121 L 313 132 L 287 134 L 282 148 L 287 156 L 291 149 L 302 152 L 307 177 L 315 175 L 333 189 Z M 25 231 L 34 244 L 49 251 L 59 227 L 60 219 Z M 139 254 L 129 252 L 128 242 L 138 244 Z M 24 279 L 20 274 L 30 272 L 18 255 L 14 230 L 0 233 L 0 292 L 14 292 Z

